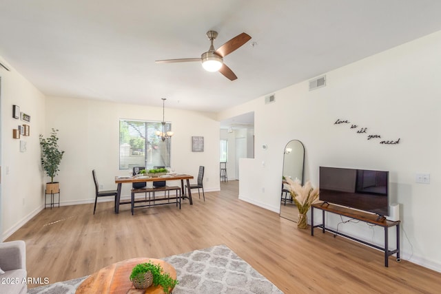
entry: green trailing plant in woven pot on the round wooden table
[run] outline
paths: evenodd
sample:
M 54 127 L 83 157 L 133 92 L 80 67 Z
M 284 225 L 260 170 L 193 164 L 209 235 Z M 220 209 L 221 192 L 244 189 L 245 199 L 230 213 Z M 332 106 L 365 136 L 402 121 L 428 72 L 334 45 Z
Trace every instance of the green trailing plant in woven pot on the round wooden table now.
M 130 281 L 137 289 L 145 289 L 150 286 L 161 286 L 164 293 L 170 293 L 178 280 L 170 277 L 169 273 L 164 273 L 161 264 L 154 264 L 152 261 L 136 264 L 130 274 Z

